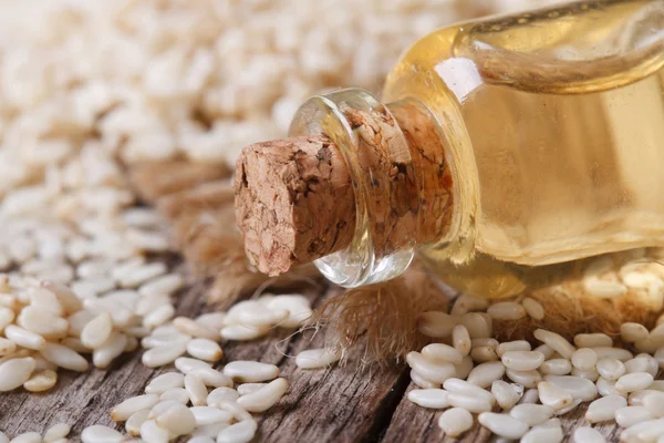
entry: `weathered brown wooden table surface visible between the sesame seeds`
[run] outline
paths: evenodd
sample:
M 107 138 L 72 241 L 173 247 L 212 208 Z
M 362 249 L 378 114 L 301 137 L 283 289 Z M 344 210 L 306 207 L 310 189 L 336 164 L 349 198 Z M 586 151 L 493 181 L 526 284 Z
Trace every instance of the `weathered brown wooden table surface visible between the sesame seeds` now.
M 329 289 L 333 291 L 338 289 Z M 209 310 L 203 303 L 204 288 L 190 288 L 178 301 L 178 313 L 196 316 Z M 317 302 L 324 295 L 313 296 Z M 294 364 L 298 352 L 321 346 L 321 334 L 292 334 L 274 331 L 253 342 L 224 346 L 224 361 L 259 360 L 277 364 L 291 388 L 281 401 L 258 416 L 257 442 L 449 442 L 437 426 L 439 411 L 417 406 L 406 400 L 409 382 L 405 365 L 359 371 L 354 365 L 305 371 Z M 224 361 L 221 363 L 224 363 Z M 220 365 L 220 364 L 219 364 Z M 143 393 L 155 375 L 172 371 L 141 363 L 141 350 L 124 354 L 105 371 L 85 373 L 60 371 L 58 385 L 44 393 L 23 390 L 0 394 L 0 430 L 14 436 L 21 432 L 44 432 L 50 425 L 66 422 L 73 426 L 72 441 L 91 424 L 114 425 L 111 408 L 124 399 Z M 563 420 L 566 441 L 573 429 L 584 425 L 585 404 Z M 124 431 L 124 426 L 116 429 Z M 618 441 L 614 424 L 599 427 L 609 441 Z M 479 425 L 467 432 L 463 442 L 490 441 L 490 433 Z

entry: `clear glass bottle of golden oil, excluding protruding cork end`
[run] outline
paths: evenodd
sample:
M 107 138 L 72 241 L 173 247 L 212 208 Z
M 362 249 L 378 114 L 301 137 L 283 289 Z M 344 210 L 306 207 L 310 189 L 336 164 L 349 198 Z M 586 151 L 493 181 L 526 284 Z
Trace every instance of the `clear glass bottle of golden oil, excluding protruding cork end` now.
M 317 266 L 352 287 L 417 254 L 460 290 L 507 297 L 590 257 L 664 247 L 663 65 L 664 1 L 582 1 L 433 32 L 382 102 L 310 99 L 290 135 L 340 147 L 357 220 L 352 244 Z M 372 145 L 357 113 L 390 134 Z

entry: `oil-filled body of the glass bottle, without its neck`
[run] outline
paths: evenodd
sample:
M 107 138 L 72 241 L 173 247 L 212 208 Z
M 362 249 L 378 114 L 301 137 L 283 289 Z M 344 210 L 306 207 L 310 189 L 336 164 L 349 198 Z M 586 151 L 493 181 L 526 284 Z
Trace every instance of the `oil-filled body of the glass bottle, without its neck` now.
M 664 2 L 594 1 L 412 47 L 383 100 L 428 107 L 455 193 L 454 233 L 418 247 L 425 264 L 507 297 L 664 246 L 663 33 Z

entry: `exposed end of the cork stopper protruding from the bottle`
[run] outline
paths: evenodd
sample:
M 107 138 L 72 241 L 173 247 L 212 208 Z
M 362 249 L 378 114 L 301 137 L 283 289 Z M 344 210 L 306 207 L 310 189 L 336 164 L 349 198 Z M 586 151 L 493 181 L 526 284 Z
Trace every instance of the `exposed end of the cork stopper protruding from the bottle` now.
M 245 147 L 235 176 L 236 222 L 251 262 L 277 276 L 349 246 L 355 230 L 351 174 L 324 135 Z

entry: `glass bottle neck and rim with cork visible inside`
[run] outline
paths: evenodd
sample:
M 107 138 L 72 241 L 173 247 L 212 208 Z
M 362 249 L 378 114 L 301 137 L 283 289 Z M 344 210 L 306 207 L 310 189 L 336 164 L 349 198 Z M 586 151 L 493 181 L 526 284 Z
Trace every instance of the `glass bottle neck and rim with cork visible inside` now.
M 355 287 L 402 274 L 419 246 L 452 238 L 452 172 L 437 121 L 415 100 L 387 105 L 363 90 L 309 99 L 291 136 L 330 137 L 355 196 L 350 246 L 314 261 L 330 280 Z

